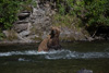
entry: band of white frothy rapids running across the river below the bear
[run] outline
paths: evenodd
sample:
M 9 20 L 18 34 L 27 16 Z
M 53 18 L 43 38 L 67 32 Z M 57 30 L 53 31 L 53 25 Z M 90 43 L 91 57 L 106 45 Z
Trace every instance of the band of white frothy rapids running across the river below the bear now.
M 90 58 L 109 58 L 109 52 L 76 52 L 70 50 L 50 50 L 48 52 L 36 50 L 25 50 L 25 51 L 10 51 L 0 52 L 0 57 L 10 56 L 38 56 L 43 59 L 90 59 Z M 23 59 L 20 59 L 23 61 Z

